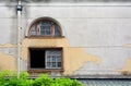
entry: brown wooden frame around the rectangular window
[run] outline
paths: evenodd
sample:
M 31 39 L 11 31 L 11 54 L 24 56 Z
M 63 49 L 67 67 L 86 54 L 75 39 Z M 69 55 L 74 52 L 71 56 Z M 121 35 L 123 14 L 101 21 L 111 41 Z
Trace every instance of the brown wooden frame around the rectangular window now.
M 31 54 L 29 54 L 29 50 L 31 49 L 44 49 L 44 50 L 61 50 L 61 69 L 31 69 Z M 28 73 L 50 73 L 50 72 L 63 72 L 63 49 L 61 47 L 47 47 L 47 48 L 38 48 L 38 47 L 29 47 L 28 48 L 28 61 L 27 61 L 27 72 Z M 46 63 L 46 61 L 45 61 Z

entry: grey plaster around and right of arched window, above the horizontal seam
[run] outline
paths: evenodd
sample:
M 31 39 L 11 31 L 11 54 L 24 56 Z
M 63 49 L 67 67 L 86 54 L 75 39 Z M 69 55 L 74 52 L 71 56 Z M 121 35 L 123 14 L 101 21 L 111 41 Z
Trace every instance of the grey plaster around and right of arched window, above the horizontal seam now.
M 27 7 L 27 20 L 29 26 L 37 17 L 56 19 L 71 47 L 114 47 L 131 41 L 130 10 L 130 7 Z

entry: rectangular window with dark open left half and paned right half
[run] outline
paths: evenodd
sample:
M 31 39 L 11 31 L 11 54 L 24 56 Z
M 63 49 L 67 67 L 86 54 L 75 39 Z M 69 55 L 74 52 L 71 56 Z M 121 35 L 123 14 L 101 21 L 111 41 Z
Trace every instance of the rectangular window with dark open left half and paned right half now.
M 29 48 L 29 69 L 62 69 L 62 48 Z

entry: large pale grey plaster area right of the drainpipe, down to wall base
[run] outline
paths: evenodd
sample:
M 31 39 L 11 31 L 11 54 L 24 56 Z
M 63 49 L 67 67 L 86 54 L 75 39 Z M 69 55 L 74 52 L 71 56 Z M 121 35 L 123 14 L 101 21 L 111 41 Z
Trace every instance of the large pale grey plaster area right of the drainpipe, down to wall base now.
M 100 64 L 86 62 L 74 75 L 120 75 L 117 72 L 131 59 L 131 8 L 121 4 L 36 4 L 26 5 L 27 27 L 37 17 L 57 20 L 70 47 L 84 48 L 98 56 Z M 37 12 L 37 13 L 35 13 Z M 118 63 L 119 62 L 119 63 Z

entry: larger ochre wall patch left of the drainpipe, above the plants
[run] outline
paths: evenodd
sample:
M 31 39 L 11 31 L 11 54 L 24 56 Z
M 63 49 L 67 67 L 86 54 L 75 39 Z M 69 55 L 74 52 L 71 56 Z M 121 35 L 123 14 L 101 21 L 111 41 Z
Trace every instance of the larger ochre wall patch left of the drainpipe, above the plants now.
M 3 70 L 16 70 L 15 58 L 0 52 L 0 71 Z

